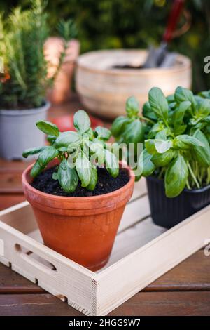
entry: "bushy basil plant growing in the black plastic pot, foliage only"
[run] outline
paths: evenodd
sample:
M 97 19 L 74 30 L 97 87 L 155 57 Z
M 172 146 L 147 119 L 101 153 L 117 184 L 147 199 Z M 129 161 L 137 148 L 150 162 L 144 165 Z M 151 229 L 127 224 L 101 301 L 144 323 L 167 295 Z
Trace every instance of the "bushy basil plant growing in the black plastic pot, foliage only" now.
M 209 94 L 193 95 L 182 87 L 168 98 L 160 88 L 149 92 L 143 117 L 139 117 L 144 120 L 145 140 L 138 160 L 139 178 L 155 175 L 165 179 L 167 197 L 178 196 L 185 187 L 200 189 L 210 184 Z M 125 142 L 120 120 L 114 121 L 112 132 Z

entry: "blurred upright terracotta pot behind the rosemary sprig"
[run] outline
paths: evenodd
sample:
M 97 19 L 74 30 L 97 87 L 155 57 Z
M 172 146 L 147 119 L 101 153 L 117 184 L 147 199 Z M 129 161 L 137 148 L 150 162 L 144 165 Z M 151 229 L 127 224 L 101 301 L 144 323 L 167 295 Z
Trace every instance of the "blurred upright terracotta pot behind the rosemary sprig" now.
M 45 41 L 45 58 L 50 63 L 48 67 L 48 76 L 52 77 L 58 65 L 59 54 L 63 51 L 63 41 L 59 37 L 50 37 Z M 64 64 L 57 74 L 53 88 L 48 92 L 48 98 L 51 103 L 59 104 L 69 100 L 71 95 L 71 84 L 75 62 L 80 51 L 78 40 L 69 41 L 69 48 L 64 59 Z

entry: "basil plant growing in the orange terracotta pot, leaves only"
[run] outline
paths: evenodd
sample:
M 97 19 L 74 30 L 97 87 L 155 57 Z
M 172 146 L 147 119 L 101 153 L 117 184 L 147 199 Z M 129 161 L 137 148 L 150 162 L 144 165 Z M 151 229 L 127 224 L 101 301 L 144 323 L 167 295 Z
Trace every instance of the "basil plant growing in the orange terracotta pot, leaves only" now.
M 59 181 L 65 192 L 73 192 L 79 180 L 82 187 L 94 190 L 97 184 L 97 166 L 106 165 L 107 171 L 116 178 L 119 164 L 116 156 L 109 150 L 106 141 L 111 137 L 109 129 L 98 126 L 95 131 L 90 128 L 90 118 L 79 110 L 73 119 L 76 131 L 59 132 L 55 124 L 49 121 L 38 121 L 36 126 L 48 136 L 50 145 L 36 147 L 23 152 L 27 158 L 38 154 L 38 159 L 31 169 L 31 176 L 36 177 L 52 159 L 59 159 L 57 171 L 52 178 Z

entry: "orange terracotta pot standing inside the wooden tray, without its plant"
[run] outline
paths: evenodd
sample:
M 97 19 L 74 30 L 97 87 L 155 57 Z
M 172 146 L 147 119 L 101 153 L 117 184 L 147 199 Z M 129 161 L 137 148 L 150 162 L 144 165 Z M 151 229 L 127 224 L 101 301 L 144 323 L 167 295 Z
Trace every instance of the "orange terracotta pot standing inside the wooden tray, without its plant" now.
M 52 161 L 48 168 L 57 163 Z M 125 205 L 132 196 L 132 170 L 127 166 L 129 182 L 109 194 L 59 197 L 30 185 L 32 166 L 22 173 L 22 185 L 45 245 L 90 270 L 102 268 L 109 260 Z

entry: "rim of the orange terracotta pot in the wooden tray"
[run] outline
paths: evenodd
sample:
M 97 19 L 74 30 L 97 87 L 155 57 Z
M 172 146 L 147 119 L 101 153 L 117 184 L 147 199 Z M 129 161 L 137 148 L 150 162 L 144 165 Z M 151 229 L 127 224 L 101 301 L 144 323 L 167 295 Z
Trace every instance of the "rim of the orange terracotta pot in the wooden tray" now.
M 53 166 L 53 164 L 55 164 L 58 160 L 54 159 L 52 161 L 50 161 L 50 163 L 48 164 L 48 166 L 45 169 L 49 169 L 50 167 Z M 67 202 L 71 200 L 71 202 L 77 202 L 78 200 L 80 202 L 92 202 L 92 201 L 97 201 L 99 199 L 109 199 L 109 197 L 115 197 L 116 195 L 119 194 L 119 191 L 121 190 L 121 192 L 123 192 L 124 190 L 127 189 L 127 187 L 129 187 L 130 185 L 132 185 L 132 183 L 134 183 L 135 180 L 135 175 L 134 175 L 134 171 L 130 168 L 130 166 L 128 166 L 125 162 L 120 161 L 119 162 L 120 165 L 124 165 L 124 169 L 127 169 L 128 173 L 129 173 L 129 181 L 123 185 L 123 187 L 120 187 L 118 190 L 114 190 L 113 192 L 108 192 L 106 194 L 98 194 L 96 196 L 88 196 L 88 197 L 67 197 L 67 196 L 57 196 L 54 194 L 48 194 L 46 192 L 41 192 L 41 190 L 38 190 L 34 187 L 31 186 L 31 184 L 28 182 L 27 180 L 27 175 L 29 174 L 29 171 L 31 171 L 31 168 L 34 166 L 35 163 L 27 166 L 27 169 L 25 169 L 25 171 L 23 171 L 22 173 L 22 185 L 25 185 L 25 187 L 27 187 L 28 190 L 31 190 L 31 192 L 34 192 L 34 194 L 38 194 L 41 197 L 45 197 L 47 199 L 50 200 L 56 200 L 59 202 Z M 51 165 L 51 166 L 50 166 Z M 30 176 L 30 174 L 29 174 Z M 31 177 L 31 176 L 30 176 Z

